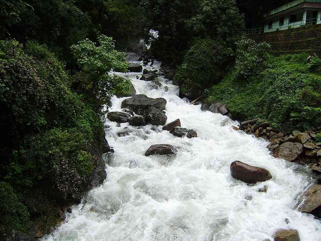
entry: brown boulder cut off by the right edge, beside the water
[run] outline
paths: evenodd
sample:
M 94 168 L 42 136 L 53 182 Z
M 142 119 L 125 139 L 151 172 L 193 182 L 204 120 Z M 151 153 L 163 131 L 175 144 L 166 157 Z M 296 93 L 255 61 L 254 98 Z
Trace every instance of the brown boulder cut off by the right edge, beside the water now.
M 300 198 L 300 212 L 310 213 L 316 209 L 321 209 L 321 184 L 312 185 Z

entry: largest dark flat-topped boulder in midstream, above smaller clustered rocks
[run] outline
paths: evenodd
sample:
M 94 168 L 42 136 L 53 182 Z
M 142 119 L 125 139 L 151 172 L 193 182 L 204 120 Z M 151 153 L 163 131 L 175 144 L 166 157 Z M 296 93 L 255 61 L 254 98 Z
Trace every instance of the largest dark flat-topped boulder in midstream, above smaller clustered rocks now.
M 150 107 L 155 107 L 160 111 L 165 109 L 167 101 L 164 98 L 149 98 L 144 94 L 136 94 L 132 98 L 128 98 L 121 103 L 121 108 L 128 108 L 136 114 L 144 115 Z

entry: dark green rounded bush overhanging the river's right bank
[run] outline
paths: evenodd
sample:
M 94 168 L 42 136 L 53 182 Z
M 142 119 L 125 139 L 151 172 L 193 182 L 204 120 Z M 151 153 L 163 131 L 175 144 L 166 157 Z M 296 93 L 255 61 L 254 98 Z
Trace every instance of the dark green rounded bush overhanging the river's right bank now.
M 183 94 L 196 98 L 205 88 L 217 83 L 232 55 L 232 49 L 223 41 L 209 37 L 196 39 L 175 73 Z

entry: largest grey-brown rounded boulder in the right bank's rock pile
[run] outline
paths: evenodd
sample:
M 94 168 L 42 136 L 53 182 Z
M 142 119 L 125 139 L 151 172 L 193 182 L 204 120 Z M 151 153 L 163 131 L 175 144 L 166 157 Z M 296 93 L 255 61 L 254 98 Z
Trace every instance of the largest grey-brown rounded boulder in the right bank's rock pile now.
M 291 162 L 303 153 L 303 151 L 303 144 L 288 141 L 284 142 L 281 146 L 276 147 L 273 151 L 273 156 Z

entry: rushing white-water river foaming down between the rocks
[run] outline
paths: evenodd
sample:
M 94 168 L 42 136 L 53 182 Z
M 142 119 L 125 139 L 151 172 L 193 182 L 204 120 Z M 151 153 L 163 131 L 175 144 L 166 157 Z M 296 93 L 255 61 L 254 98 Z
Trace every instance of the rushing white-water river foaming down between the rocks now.
M 311 182 L 306 167 L 273 158 L 265 140 L 233 130 L 238 122 L 180 99 L 178 86 L 166 79 L 160 78 L 168 92 L 136 79 L 142 73 L 117 74 L 130 78 L 137 94 L 165 98 L 167 123 L 179 118 L 198 137 L 178 138 L 151 125 L 118 137 L 129 124 L 117 127 L 107 120 L 106 138 L 115 150 L 108 157 L 107 179 L 43 240 L 262 241 L 273 240 L 279 228 L 294 228 L 301 241 L 321 241 L 320 220 L 296 210 L 299 194 Z M 113 97 L 109 110 L 120 111 L 124 99 Z M 144 156 L 153 144 L 181 148 L 175 156 Z M 251 185 L 236 180 L 230 175 L 235 160 L 264 167 L 273 178 Z M 264 185 L 267 192 L 258 192 Z

